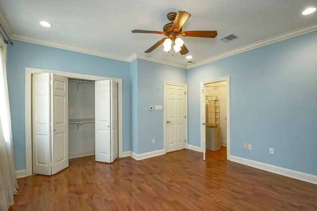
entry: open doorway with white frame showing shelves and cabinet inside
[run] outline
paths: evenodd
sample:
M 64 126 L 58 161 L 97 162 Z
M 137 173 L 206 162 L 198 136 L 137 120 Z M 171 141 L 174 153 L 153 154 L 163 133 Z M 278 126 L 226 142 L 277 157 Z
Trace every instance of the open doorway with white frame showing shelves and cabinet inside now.
M 202 82 L 201 87 L 204 160 L 230 160 L 229 77 Z

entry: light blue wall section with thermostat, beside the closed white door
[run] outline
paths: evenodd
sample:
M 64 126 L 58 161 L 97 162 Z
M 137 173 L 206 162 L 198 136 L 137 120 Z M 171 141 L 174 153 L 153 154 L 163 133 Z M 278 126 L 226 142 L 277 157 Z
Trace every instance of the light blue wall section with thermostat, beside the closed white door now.
M 186 84 L 187 71 L 138 59 L 138 152 L 135 152 L 137 154 L 164 149 L 163 110 L 149 110 L 149 106 L 163 105 L 164 81 Z

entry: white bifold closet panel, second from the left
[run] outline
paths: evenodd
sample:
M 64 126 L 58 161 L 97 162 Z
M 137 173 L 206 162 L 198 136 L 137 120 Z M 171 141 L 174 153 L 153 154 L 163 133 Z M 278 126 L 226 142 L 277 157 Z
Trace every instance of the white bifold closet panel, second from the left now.
M 68 167 L 68 80 L 51 75 L 52 174 Z

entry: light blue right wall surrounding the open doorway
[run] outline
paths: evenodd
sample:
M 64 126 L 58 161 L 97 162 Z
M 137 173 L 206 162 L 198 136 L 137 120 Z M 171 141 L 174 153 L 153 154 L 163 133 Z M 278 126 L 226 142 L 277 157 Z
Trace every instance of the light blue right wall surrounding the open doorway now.
M 316 55 L 317 31 L 188 70 L 189 144 L 200 146 L 200 82 L 230 76 L 231 155 L 317 175 Z

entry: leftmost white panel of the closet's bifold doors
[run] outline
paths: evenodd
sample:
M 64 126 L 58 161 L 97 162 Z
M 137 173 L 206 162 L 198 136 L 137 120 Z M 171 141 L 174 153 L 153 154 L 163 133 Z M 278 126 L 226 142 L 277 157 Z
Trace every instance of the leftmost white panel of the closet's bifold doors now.
M 32 75 L 33 173 L 51 175 L 50 74 Z

